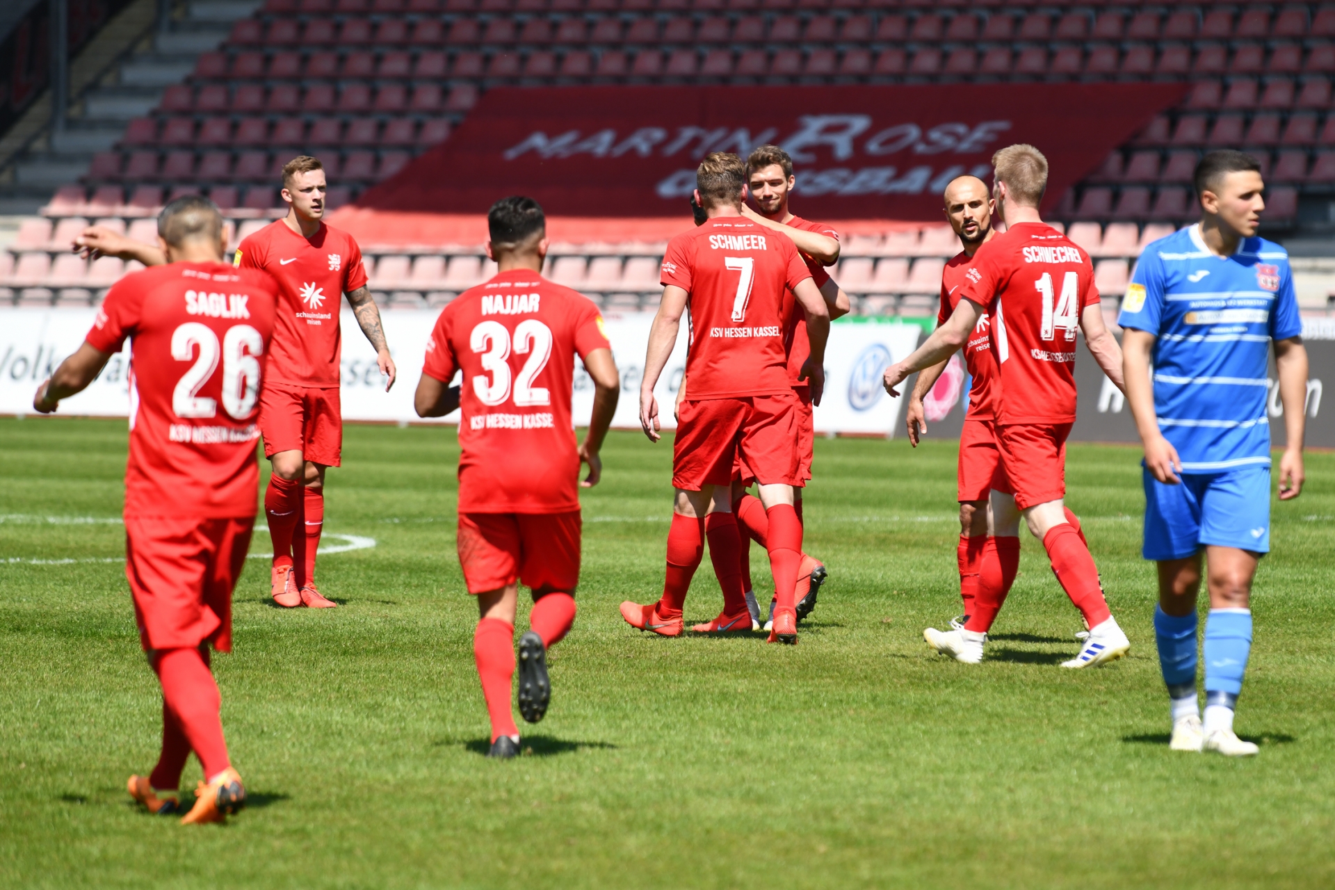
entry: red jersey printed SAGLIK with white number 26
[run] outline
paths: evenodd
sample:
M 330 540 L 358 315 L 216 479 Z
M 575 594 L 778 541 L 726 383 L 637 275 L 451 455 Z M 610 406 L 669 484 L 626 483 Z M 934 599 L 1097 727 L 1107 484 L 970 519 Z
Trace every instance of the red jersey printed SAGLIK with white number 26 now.
M 172 263 L 107 292 L 88 344 L 129 338 L 127 516 L 255 515 L 260 378 L 278 286 L 227 263 Z

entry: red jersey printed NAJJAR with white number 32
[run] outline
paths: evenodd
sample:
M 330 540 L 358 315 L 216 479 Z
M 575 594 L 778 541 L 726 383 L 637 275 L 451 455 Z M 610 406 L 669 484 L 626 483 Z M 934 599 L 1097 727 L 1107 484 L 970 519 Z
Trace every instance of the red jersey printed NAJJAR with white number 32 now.
M 589 298 L 527 270 L 501 272 L 445 307 L 422 372 L 449 384 L 463 371 L 459 512 L 579 508 L 574 358 L 607 348 Z

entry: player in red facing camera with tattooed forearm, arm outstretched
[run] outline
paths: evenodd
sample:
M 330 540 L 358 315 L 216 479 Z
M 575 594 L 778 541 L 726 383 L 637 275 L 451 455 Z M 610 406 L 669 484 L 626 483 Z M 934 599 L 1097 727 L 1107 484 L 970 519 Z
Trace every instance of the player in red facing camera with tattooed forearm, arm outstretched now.
M 384 343 L 380 311 L 366 287 L 362 251 L 351 235 L 323 221 L 326 191 L 318 159 L 302 155 L 287 161 L 282 192 L 287 216 L 242 242 L 234 258 L 240 268 L 262 268 L 272 275 L 283 298 L 270 386 L 260 394 L 259 428 L 274 470 L 264 491 L 274 542 L 271 592 L 274 602 L 286 607 L 338 604 L 315 587 L 315 554 L 324 528 L 324 470 L 339 466 L 343 448 L 338 314 L 343 294 L 375 348 L 386 392 L 398 374 Z M 119 256 L 144 266 L 166 262 L 158 247 L 99 226 L 84 230 L 73 248 L 88 256 Z

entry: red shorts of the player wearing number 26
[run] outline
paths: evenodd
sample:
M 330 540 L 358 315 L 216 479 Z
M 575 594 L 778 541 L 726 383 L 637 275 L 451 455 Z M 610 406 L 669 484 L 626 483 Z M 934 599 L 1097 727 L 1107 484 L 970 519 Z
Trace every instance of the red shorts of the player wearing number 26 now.
M 255 518 L 125 518 L 125 578 L 144 650 L 232 651 L 232 588 Z

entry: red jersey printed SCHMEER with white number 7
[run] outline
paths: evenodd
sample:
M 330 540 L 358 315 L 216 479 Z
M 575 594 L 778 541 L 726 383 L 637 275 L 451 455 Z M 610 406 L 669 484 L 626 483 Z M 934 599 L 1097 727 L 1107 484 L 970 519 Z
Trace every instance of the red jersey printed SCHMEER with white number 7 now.
M 784 291 L 812 276 L 784 234 L 716 216 L 668 242 L 661 282 L 688 294 L 690 399 L 793 391 L 784 348 Z

